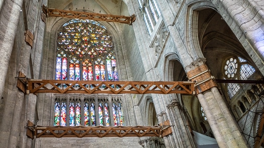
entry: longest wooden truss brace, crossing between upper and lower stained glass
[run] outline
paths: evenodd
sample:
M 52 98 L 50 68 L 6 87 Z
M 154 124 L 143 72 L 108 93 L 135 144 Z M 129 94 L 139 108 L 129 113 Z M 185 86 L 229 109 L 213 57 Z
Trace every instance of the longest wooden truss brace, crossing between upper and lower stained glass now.
M 29 93 L 81 93 L 81 94 L 195 94 L 195 83 L 189 81 L 77 81 L 27 80 Z

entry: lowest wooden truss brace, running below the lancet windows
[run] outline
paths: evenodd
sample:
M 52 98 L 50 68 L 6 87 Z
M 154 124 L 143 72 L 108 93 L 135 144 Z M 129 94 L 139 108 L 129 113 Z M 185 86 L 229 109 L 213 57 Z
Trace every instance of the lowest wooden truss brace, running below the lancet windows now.
M 167 123 L 169 123 L 167 121 Z M 39 137 L 124 137 L 124 136 L 157 136 L 163 137 L 171 132 L 166 123 L 162 126 L 36 126 L 28 121 L 27 136 Z M 171 129 L 170 129 L 171 130 Z

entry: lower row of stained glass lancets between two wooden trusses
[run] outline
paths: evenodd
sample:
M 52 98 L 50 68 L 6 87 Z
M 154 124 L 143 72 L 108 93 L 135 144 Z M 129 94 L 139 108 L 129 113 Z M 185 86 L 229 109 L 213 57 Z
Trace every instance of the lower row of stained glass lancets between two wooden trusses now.
M 113 104 L 113 108 L 109 104 Z M 56 95 L 54 126 L 124 125 L 121 107 L 121 97 L 117 96 L 109 99 L 107 96 Z

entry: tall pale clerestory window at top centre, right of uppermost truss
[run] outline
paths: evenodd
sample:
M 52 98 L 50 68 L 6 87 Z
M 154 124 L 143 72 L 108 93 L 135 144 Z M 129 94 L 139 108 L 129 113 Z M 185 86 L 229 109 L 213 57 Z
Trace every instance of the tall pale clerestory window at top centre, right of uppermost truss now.
M 154 26 L 158 22 L 158 19 L 160 17 L 160 12 L 157 7 L 157 3 L 155 0 L 138 0 L 139 3 L 139 9 L 141 10 L 143 14 L 143 19 L 146 24 L 147 30 L 149 35 L 154 30 Z

